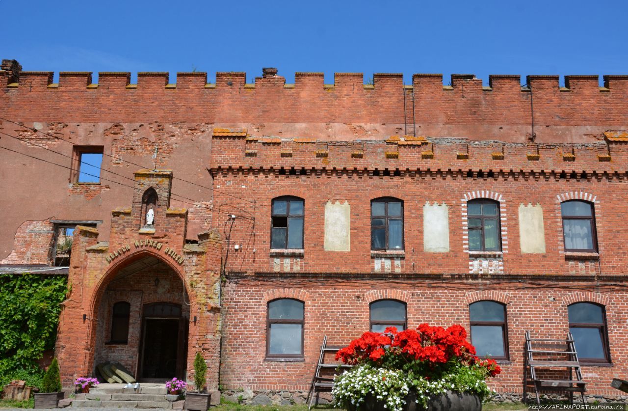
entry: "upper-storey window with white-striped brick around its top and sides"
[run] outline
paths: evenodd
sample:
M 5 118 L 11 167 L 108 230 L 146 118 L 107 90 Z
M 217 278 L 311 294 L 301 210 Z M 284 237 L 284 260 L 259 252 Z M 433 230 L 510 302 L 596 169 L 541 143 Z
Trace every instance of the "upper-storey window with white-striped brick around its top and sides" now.
M 467 202 L 469 251 L 502 251 L 499 203 L 489 199 Z

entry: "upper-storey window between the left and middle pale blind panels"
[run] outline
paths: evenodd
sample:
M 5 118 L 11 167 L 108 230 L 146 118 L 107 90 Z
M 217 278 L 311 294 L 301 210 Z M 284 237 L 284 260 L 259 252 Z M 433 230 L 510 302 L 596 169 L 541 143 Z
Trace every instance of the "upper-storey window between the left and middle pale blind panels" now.
M 371 249 L 403 249 L 403 201 L 371 200 Z

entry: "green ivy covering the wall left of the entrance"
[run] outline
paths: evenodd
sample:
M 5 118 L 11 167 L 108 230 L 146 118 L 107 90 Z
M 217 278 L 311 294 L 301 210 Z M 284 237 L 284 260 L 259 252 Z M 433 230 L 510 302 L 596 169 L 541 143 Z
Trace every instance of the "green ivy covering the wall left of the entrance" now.
M 65 275 L 0 275 L 0 387 L 18 379 L 40 385 L 37 361 L 55 346 L 66 293 Z

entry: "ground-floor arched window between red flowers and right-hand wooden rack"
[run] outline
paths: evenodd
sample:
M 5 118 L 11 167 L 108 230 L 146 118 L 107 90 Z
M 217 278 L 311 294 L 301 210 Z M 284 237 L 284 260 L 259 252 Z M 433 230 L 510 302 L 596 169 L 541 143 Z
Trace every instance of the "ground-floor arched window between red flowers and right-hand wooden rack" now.
M 508 327 L 506 305 L 495 301 L 469 304 L 471 344 L 477 355 L 508 359 Z

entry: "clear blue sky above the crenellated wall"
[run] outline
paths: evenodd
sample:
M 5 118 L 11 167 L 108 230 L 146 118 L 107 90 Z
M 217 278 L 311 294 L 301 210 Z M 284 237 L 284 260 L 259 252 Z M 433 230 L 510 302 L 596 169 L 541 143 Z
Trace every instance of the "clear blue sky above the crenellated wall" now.
M 24 70 L 628 74 L 628 1 L 0 0 Z M 56 77 L 56 75 L 55 75 Z M 524 82 L 524 77 L 522 77 Z M 562 79 L 561 79 L 562 82 Z

